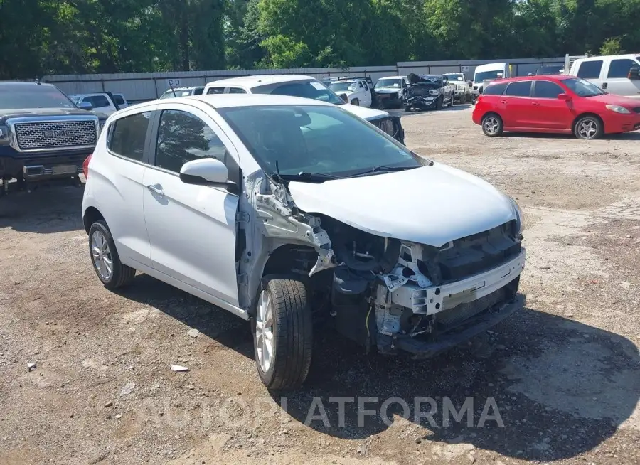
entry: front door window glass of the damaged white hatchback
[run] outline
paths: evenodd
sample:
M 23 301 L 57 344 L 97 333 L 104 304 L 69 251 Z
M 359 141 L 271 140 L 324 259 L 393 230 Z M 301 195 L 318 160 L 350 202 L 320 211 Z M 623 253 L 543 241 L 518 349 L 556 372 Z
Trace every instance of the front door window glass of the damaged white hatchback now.
M 187 161 L 201 158 L 222 161 L 229 170 L 229 180 L 238 182 L 238 165 L 206 122 L 195 114 L 164 110 L 158 129 L 156 166 L 179 173 Z

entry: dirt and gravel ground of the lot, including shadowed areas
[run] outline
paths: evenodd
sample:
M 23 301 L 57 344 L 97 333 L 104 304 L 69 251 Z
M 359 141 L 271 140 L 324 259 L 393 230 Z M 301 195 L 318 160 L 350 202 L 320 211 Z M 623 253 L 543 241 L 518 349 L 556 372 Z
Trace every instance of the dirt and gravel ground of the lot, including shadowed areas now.
M 403 124 L 411 149 L 517 198 L 528 308 L 422 362 L 316 334 L 309 380 L 283 401 L 257 378 L 245 322 L 144 275 L 102 288 L 80 189 L 2 198 L 0 462 L 640 463 L 640 134 L 489 139 L 465 106 Z M 358 427 L 356 399 L 340 427 L 339 396 L 377 397 L 366 408 L 390 421 Z M 415 397 L 434 400 L 433 426 Z M 467 397 L 472 427 L 444 427 L 446 402 Z M 304 424 L 314 398 L 329 424 Z M 503 427 L 479 427 L 490 399 Z

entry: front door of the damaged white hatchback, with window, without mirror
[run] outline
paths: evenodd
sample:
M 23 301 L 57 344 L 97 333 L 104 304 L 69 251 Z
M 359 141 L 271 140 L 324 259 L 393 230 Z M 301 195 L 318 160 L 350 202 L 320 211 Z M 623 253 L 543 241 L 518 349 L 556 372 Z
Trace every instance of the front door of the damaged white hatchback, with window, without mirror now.
M 183 183 L 187 161 L 223 161 L 239 181 L 235 147 L 200 109 L 159 105 L 153 167 L 144 173 L 144 218 L 151 261 L 161 273 L 238 306 L 235 216 L 238 196 L 225 188 Z

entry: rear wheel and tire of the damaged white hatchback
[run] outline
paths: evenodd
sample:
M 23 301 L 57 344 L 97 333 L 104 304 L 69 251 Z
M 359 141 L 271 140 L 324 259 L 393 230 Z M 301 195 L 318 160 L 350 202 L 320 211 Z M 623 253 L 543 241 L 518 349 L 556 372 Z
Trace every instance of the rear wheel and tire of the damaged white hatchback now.
M 120 262 L 111 231 L 104 220 L 89 229 L 89 255 L 95 274 L 107 289 L 113 290 L 132 282 L 136 270 Z

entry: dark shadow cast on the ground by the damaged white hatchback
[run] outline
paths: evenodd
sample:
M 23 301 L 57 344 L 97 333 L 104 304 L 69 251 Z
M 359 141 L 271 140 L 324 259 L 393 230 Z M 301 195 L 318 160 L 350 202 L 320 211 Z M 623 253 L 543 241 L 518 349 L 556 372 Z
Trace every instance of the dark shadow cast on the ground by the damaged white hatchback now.
M 120 294 L 253 358 L 247 322 L 226 311 L 145 275 Z M 430 441 L 550 461 L 597 447 L 626 420 L 640 427 L 631 418 L 640 399 L 634 343 L 535 309 L 431 360 L 366 355 L 331 330 L 316 331 L 315 341 L 304 387 L 272 397 L 282 405 L 286 396 L 287 415 L 333 437 L 366 439 L 406 417 Z M 346 401 L 344 415 L 336 397 Z

